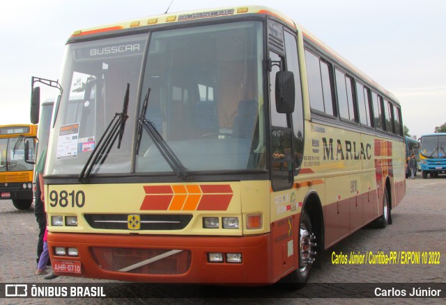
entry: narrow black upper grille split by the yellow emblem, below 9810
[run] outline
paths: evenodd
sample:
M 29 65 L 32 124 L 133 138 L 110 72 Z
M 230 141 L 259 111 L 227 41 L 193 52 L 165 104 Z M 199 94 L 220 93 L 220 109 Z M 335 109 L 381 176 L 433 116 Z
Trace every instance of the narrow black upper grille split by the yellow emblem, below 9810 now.
M 85 220 L 93 229 L 128 230 L 128 214 L 85 214 Z M 181 230 L 184 229 L 192 215 L 139 215 L 139 230 Z

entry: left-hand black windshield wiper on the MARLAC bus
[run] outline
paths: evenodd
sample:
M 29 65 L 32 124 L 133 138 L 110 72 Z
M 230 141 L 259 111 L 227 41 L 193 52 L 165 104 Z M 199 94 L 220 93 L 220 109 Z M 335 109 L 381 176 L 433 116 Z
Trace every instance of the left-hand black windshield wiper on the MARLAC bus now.
M 124 103 L 123 103 L 123 112 L 115 113 L 112 119 L 112 122 L 109 123 L 107 129 L 105 129 L 102 134 L 98 144 L 95 145 L 95 148 L 91 152 L 89 160 L 86 161 L 84 168 L 82 169 L 77 179 L 80 182 L 87 182 L 89 180 L 89 176 L 91 170 L 96 164 L 102 165 L 105 162 L 105 159 L 112 150 L 114 142 L 119 137 L 118 140 L 118 148 L 121 148 L 121 140 L 124 134 L 125 121 L 128 118 L 127 110 L 128 110 L 128 101 L 129 101 L 129 91 L 130 91 L 130 83 L 127 83 L 127 90 L 125 90 Z

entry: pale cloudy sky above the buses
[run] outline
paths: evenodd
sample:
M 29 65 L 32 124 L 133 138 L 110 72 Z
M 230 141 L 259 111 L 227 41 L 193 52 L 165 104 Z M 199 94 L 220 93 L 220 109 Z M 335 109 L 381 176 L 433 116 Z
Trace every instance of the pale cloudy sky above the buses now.
M 3 1 L 0 125 L 29 124 L 31 76 L 59 79 L 65 43 L 74 31 L 159 15 L 170 3 Z M 392 92 L 410 135 L 433 133 L 446 122 L 446 1 L 174 0 L 169 13 L 247 4 L 285 13 Z M 41 101 L 53 96 L 54 91 L 43 89 Z

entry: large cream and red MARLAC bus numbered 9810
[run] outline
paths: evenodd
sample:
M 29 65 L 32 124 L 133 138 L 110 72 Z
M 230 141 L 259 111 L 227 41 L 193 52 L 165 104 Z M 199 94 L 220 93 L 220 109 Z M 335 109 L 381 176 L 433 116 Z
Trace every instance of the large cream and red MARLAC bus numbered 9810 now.
M 55 274 L 295 287 L 405 194 L 397 99 L 270 8 L 75 31 L 56 85 Z

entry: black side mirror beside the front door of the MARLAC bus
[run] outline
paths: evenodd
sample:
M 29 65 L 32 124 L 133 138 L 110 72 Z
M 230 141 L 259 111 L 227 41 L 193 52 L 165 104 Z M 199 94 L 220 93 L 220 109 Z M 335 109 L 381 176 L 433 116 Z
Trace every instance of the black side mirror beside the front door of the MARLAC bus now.
M 276 74 L 276 110 L 277 113 L 293 113 L 294 111 L 294 74 L 290 71 L 279 71 Z

